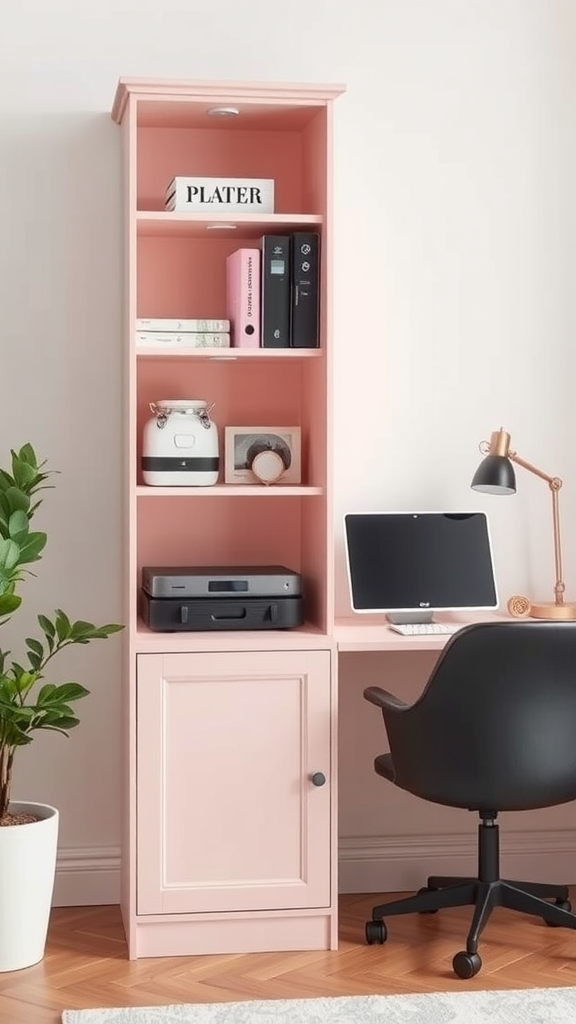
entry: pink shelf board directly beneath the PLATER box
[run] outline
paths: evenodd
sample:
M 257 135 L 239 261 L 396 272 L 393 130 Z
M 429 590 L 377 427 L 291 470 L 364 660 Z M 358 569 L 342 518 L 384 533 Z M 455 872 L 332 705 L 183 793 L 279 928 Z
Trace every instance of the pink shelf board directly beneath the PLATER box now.
M 262 234 L 321 227 L 323 217 L 304 213 L 175 213 L 166 210 L 138 210 L 136 228 L 140 236 L 186 238 L 259 239 Z M 228 226 L 231 225 L 231 226 Z

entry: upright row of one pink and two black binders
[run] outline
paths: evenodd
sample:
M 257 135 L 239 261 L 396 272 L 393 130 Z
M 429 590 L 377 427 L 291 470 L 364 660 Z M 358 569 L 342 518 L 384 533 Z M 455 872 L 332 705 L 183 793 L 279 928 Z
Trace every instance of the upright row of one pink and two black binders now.
M 320 236 L 264 234 L 227 259 L 227 315 L 240 348 L 318 348 Z

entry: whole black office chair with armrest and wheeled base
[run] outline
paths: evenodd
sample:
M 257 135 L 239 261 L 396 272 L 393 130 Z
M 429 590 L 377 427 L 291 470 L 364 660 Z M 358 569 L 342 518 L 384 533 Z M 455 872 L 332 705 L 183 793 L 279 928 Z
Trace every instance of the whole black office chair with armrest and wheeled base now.
M 364 696 L 381 709 L 389 743 L 390 753 L 374 761 L 378 775 L 481 818 L 478 878 L 431 876 L 415 896 L 375 906 L 367 941 L 385 942 L 384 915 L 471 904 L 466 949 L 452 966 L 459 978 L 472 978 L 495 906 L 576 928 L 567 886 L 500 879 L 496 824 L 499 811 L 576 799 L 576 623 L 466 626 L 450 638 L 415 703 L 379 686 Z

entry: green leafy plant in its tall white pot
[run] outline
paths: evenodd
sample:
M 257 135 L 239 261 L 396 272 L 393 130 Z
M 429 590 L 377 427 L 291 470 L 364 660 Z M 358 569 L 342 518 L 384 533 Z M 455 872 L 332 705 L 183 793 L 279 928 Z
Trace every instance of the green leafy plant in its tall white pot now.
M 33 574 L 46 534 L 31 522 L 52 475 L 31 444 L 11 451 L 10 470 L 0 469 L 0 626 L 22 604 L 19 585 Z M 54 884 L 58 812 L 47 804 L 11 801 L 14 756 L 40 729 L 68 735 L 79 719 L 73 705 L 87 696 L 77 682 L 46 679 L 66 647 L 105 639 L 123 627 L 72 621 L 57 608 L 38 615 L 39 636 L 26 637 L 13 660 L 0 645 L 0 971 L 15 971 L 44 955 Z M 10 627 L 11 631 L 12 627 Z

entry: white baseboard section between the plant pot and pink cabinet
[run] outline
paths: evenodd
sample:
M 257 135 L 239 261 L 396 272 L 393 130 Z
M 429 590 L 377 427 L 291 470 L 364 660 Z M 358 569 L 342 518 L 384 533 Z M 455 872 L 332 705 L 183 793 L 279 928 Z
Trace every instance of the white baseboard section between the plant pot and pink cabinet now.
M 52 906 L 98 906 L 120 902 L 120 847 L 58 850 Z

